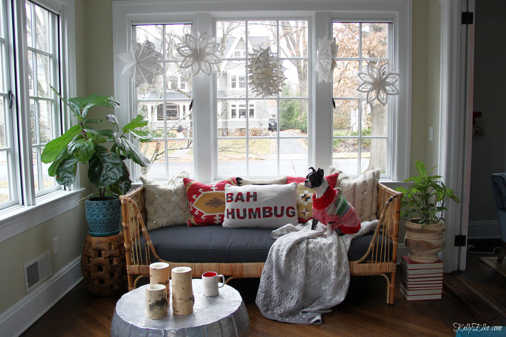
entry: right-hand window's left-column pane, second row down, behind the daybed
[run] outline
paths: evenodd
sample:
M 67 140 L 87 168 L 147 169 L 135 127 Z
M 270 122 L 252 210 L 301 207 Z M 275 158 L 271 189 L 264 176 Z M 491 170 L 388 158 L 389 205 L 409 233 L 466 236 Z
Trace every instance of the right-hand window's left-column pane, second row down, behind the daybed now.
M 333 71 L 334 97 L 358 97 L 357 61 L 338 61 Z

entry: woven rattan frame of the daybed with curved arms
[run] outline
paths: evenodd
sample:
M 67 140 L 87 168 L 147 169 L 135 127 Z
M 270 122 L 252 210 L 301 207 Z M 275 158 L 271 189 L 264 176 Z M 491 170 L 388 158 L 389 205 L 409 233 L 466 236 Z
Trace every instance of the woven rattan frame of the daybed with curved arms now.
M 122 223 L 124 229 L 126 272 L 128 275 L 129 291 L 136 288 L 137 282 L 141 277 L 149 277 L 151 254 L 156 257 L 158 261 L 169 263 L 171 268 L 179 266 L 190 267 L 194 278 L 200 277 L 202 273 L 209 270 L 216 271 L 218 274 L 230 276 L 226 282 L 232 278 L 261 276 L 264 267 L 263 262 L 183 263 L 160 259 L 151 243 L 148 230 L 145 226 L 146 209 L 144 204 L 144 187 L 138 187 L 119 198 L 121 200 L 121 212 L 123 216 Z M 377 215 L 379 217 L 379 222 L 367 252 L 362 258 L 350 261 L 350 272 L 352 276 L 383 275 L 387 279 L 388 304 L 394 304 L 401 199 L 402 193 L 381 183 L 378 184 Z M 143 243 L 143 245 L 141 245 L 141 243 Z M 389 243 L 392 243 L 392 245 Z M 147 259 L 143 259 L 143 257 L 147 257 Z M 135 275 L 138 276 L 134 278 Z

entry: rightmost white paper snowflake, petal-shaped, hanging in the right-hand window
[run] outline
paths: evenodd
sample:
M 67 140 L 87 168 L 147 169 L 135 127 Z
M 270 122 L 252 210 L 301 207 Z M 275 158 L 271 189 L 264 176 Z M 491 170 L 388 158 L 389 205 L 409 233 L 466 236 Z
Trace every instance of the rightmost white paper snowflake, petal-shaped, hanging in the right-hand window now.
M 398 95 L 399 88 L 397 82 L 400 74 L 388 71 L 389 64 L 385 62 L 381 67 L 378 63 L 367 64 L 366 73 L 358 73 L 358 77 L 363 81 L 358 91 L 367 92 L 367 104 L 378 100 L 379 103 L 387 105 L 388 95 Z

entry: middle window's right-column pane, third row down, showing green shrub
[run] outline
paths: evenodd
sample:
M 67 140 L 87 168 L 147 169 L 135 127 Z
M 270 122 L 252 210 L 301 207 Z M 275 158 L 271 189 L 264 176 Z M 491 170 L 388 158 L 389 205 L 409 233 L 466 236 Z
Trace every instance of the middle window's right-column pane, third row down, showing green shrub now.
M 308 101 L 279 101 L 279 135 L 282 137 L 307 136 Z

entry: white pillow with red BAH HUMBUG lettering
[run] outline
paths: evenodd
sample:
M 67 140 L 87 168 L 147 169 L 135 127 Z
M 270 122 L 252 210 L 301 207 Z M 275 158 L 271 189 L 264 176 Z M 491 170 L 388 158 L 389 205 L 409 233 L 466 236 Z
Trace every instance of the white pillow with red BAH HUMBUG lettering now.
M 299 223 L 297 183 L 285 185 L 225 185 L 226 228 L 279 228 Z

